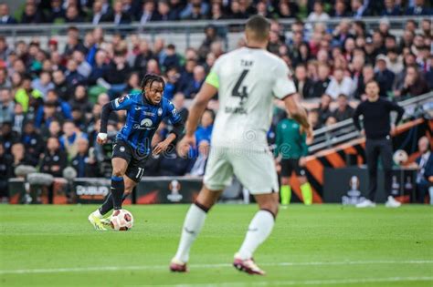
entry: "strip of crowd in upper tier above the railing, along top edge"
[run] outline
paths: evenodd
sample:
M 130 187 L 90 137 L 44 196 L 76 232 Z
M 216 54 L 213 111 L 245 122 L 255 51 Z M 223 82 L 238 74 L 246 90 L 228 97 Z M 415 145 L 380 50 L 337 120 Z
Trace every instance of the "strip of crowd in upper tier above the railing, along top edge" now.
M 112 3 L 111 3 L 112 2 Z M 200 19 L 246 19 L 250 15 L 269 18 L 330 17 L 361 18 L 369 15 L 431 15 L 425 0 L 26 0 L 11 15 L 0 5 L 1 24 L 111 23 L 127 25 L 154 21 Z

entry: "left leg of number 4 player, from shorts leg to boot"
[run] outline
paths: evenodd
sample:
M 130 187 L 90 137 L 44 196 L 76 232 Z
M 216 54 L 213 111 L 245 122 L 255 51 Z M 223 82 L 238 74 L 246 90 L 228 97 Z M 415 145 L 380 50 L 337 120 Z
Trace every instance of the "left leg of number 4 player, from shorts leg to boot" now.
M 207 211 L 214 206 L 222 192 L 221 190 L 224 190 L 230 184 L 232 176 L 233 169 L 224 155 L 216 155 L 216 151 L 211 150 L 206 165 L 205 184 L 200 190 L 195 203 L 191 205 L 186 213 L 181 240 L 170 264 L 171 271 L 187 271 L 186 262 L 189 260 L 189 251 L 205 224 Z

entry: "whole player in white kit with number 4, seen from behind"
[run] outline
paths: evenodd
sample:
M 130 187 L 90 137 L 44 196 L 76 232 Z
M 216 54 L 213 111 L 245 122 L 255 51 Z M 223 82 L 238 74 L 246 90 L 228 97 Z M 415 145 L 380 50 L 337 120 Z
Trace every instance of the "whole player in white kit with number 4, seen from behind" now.
M 204 186 L 186 214 L 179 247 L 170 264 L 172 272 L 187 272 L 189 251 L 205 223 L 207 211 L 236 175 L 254 195 L 259 211 L 249 224 L 233 265 L 242 272 L 265 274 L 252 256 L 268 238 L 279 209 L 277 172 L 266 137 L 273 98 L 283 100 L 291 117 L 306 130 L 310 128 L 305 110 L 291 97 L 296 88 L 289 68 L 278 56 L 266 51 L 269 28 L 269 21 L 263 16 L 249 18 L 245 31 L 248 46 L 220 56 L 195 96 L 180 149 L 195 146 L 198 121 L 216 92 L 220 106 Z

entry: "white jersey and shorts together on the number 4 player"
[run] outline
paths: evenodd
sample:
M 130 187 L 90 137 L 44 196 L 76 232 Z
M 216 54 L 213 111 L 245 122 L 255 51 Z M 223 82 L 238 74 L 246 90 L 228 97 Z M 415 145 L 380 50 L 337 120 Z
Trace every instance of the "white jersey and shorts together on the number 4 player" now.
M 235 174 L 252 194 L 279 191 L 266 134 L 273 98 L 296 91 L 289 74 L 284 61 L 262 49 L 244 47 L 216 60 L 206 77 L 219 97 L 204 179 L 207 189 L 224 190 Z

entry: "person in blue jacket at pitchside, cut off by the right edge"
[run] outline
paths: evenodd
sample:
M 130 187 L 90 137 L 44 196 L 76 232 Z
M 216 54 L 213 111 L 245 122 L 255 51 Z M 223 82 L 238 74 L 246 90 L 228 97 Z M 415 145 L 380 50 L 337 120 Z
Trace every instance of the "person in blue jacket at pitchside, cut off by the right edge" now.
M 419 157 L 415 159 L 417 168 L 417 202 L 424 203 L 428 190 L 433 188 L 433 153 L 429 147 L 428 138 L 418 140 Z M 433 204 L 433 190 L 429 193 L 430 204 Z

